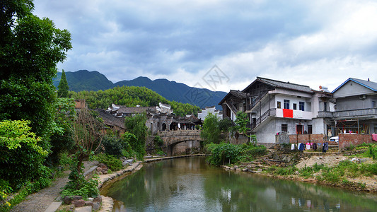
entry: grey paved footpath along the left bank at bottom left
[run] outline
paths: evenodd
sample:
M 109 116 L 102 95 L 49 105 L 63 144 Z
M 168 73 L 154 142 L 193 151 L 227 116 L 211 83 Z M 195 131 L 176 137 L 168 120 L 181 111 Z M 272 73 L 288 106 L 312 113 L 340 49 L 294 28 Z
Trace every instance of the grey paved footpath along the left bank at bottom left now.
M 84 165 L 84 172 L 86 172 L 86 170 L 93 167 L 95 163 L 88 161 L 84 162 Z M 24 201 L 14 206 L 11 211 L 44 212 L 50 206 L 50 204 L 52 204 L 52 202 L 59 198 L 62 187 L 64 187 L 68 182 L 69 171 L 64 172 L 64 174 L 66 177 L 57 178 L 54 180 L 54 182 L 52 182 L 50 187 L 42 189 L 37 193 L 30 194 Z

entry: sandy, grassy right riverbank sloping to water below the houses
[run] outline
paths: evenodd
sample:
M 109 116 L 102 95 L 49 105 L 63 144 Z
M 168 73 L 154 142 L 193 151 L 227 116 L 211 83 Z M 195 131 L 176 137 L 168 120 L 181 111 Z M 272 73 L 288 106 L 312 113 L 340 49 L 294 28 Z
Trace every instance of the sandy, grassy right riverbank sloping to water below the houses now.
M 223 167 L 229 171 L 254 172 L 257 175 L 265 175 L 277 179 L 289 179 L 298 182 L 340 187 L 358 192 L 377 193 L 377 176 L 367 172 L 368 165 L 372 163 L 375 162 L 371 158 L 326 153 L 321 155 L 306 154 L 296 165 L 286 167 L 261 165 L 262 168 L 257 171 L 250 170 L 247 167 L 243 167 L 243 165 L 224 165 Z M 336 172 L 340 172 L 340 174 Z

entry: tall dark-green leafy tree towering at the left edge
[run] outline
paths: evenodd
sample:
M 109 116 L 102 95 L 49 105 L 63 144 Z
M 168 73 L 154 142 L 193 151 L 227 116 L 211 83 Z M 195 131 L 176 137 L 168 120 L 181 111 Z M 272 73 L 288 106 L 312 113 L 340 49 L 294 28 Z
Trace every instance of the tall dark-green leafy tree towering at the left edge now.
M 47 149 L 56 98 L 52 78 L 71 49 L 71 35 L 34 16 L 31 0 L 4 0 L 0 7 L 0 120 L 30 120 Z

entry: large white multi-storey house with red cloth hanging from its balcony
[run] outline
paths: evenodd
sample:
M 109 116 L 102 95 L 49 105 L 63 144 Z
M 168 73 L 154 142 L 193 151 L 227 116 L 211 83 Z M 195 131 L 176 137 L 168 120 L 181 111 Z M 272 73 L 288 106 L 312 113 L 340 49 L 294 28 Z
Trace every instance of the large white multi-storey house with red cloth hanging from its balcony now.
M 250 134 L 259 143 L 275 143 L 276 134 L 326 134 L 323 117 L 318 117 L 321 102 L 332 98 L 330 92 L 308 86 L 257 77 L 243 90 L 231 90 L 219 105 L 223 117 L 236 119 L 246 112 Z

